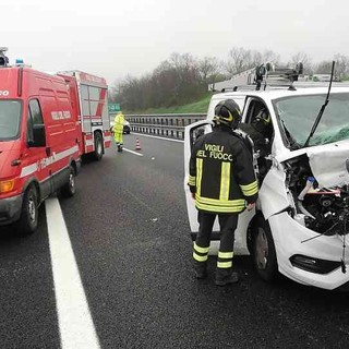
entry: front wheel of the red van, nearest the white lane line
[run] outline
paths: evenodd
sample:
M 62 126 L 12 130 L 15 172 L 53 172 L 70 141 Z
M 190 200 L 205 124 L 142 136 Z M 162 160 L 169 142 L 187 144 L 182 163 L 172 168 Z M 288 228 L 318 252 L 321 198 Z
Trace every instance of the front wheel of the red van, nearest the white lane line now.
M 23 195 L 22 213 L 19 220 L 19 232 L 31 234 L 37 229 L 38 197 L 34 185 L 29 185 Z

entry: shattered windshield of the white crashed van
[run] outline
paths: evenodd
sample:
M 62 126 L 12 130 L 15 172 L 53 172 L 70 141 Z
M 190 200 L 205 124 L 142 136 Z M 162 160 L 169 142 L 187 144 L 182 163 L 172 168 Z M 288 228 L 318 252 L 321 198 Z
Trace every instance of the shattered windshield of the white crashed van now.
M 326 95 L 306 95 L 280 98 L 275 110 L 288 141 L 303 147 Z M 309 145 L 321 145 L 349 140 L 349 93 L 329 95 L 329 101 Z

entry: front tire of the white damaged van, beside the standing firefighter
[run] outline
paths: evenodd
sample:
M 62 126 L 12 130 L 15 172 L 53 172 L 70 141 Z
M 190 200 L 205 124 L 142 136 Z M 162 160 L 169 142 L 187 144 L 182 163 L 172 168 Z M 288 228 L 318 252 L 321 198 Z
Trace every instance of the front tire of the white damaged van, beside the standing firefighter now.
M 269 224 L 257 215 L 252 224 L 252 257 L 257 274 L 265 281 L 273 281 L 278 276 L 278 266 L 274 239 Z

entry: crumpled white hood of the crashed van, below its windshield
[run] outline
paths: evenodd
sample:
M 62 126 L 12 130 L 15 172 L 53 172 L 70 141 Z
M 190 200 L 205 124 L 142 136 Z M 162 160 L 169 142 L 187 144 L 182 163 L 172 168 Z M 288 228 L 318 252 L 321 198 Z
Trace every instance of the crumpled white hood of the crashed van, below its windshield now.
M 320 188 L 342 186 L 349 183 L 349 140 L 308 147 L 277 157 L 279 161 L 306 154 L 309 165 Z

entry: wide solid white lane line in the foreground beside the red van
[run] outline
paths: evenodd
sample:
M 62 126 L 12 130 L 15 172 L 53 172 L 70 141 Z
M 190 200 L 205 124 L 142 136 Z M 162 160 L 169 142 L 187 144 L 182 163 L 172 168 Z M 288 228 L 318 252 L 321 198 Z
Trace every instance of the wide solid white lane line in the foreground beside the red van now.
M 62 349 L 99 349 L 74 252 L 58 198 L 45 202 Z

